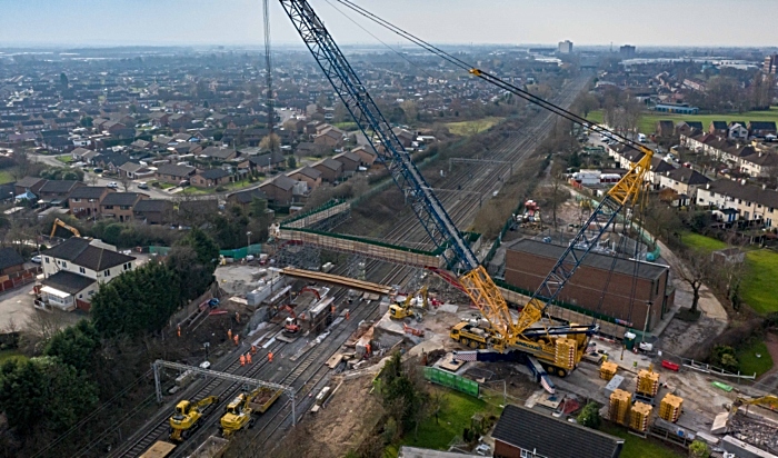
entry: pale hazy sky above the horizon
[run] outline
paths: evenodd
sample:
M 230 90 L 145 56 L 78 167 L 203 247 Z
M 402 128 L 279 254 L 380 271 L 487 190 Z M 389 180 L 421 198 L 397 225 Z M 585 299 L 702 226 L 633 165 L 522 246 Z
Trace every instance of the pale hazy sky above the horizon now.
M 299 43 L 270 0 L 277 43 Z M 432 42 L 777 46 L 778 0 L 355 0 Z M 376 40 L 311 0 L 341 43 Z M 338 7 L 345 11 L 343 7 Z M 353 13 L 351 14 L 355 18 Z M 359 23 L 391 43 L 398 39 Z M 261 0 L 0 0 L 0 46 L 262 44 Z

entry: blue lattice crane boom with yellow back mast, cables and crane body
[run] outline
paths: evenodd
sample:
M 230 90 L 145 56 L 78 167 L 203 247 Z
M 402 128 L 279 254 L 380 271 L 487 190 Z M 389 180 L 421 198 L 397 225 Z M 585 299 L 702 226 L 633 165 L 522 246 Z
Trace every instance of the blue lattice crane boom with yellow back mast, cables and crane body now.
M 562 328 L 547 328 L 547 332 L 541 336 L 538 328 L 531 327 L 542 319 L 546 307 L 565 287 L 586 255 L 605 233 L 608 226 L 612 223 L 616 215 L 626 205 L 636 201 L 644 182 L 644 176 L 650 167 L 652 151 L 638 145 L 638 149 L 644 152 L 644 158 L 608 192 L 589 221 L 573 238 L 551 272 L 549 272 L 541 286 L 532 295 L 530 301 L 519 313 L 518 320 L 513 320 L 508 305 L 493 280 L 478 262 L 465 238 L 431 191 L 423 176 L 410 159 L 410 155 L 395 136 L 391 126 L 380 112 L 365 84 L 360 81 L 309 2 L 306 0 L 279 1 L 325 76 L 332 84 L 336 93 L 343 102 L 343 106 L 366 138 L 371 140 L 370 145 L 378 155 L 379 160 L 388 168 L 392 179 L 410 201 L 411 208 L 433 243 L 437 247 L 446 248 L 443 256 L 455 271 L 463 272 L 457 280 L 462 290 L 478 306 L 490 326 L 486 333 L 479 335 L 480 340 L 470 340 L 469 344 L 471 346 L 475 344 L 475 348 L 486 348 L 489 345 L 499 351 L 508 348 L 520 348 L 522 351 L 539 357 L 549 367 L 559 368 L 558 374 L 560 375 L 567 374 L 575 368 L 586 349 L 588 336 L 596 331 L 596 326 L 585 327 L 585 329 L 576 328 L 575 331 L 570 328 L 569 333 L 572 337 L 568 336 L 568 338 L 552 337 L 563 332 Z M 338 1 L 353 6 L 350 1 Z M 386 24 L 383 26 L 386 27 Z M 427 44 L 426 49 L 430 48 L 440 51 Z M 439 53 L 442 54 L 442 51 Z M 451 61 L 450 56 L 447 59 Z M 567 119 L 571 119 L 573 122 L 586 125 L 595 131 L 608 132 L 599 126 L 590 125 L 585 119 L 581 122 L 582 118 L 577 117 L 577 114 L 503 82 L 482 70 L 469 66 L 466 69 L 478 78 L 485 79 Z M 620 136 L 614 136 L 626 140 Z M 627 141 L 634 143 L 631 140 Z M 594 235 L 587 233 L 591 225 L 599 227 Z M 579 250 L 577 251 L 576 248 Z M 460 323 L 458 326 L 461 329 L 468 325 Z M 560 332 L 557 332 L 557 330 Z

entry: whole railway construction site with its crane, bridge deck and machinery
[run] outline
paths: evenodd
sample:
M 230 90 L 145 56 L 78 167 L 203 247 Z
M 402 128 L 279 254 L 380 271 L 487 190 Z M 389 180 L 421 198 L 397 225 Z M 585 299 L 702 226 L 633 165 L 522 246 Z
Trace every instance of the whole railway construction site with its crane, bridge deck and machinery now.
M 430 186 L 433 173 L 410 159 L 311 6 L 281 4 L 371 139 L 407 211 L 380 239 L 357 236 L 348 228 L 352 202 L 333 200 L 278 220 L 257 259 L 225 261 L 208 297 L 171 322 L 199 350 L 153 364 L 157 414 L 107 456 L 282 456 L 285 447 L 343 456 L 343 445 L 357 447 L 377 421 L 362 417 L 365 406 L 376 402 L 373 380 L 398 351 L 422 366 L 429 384 L 477 399 L 501 394 L 500 408 L 519 405 L 570 422 L 595 402 L 610 424 L 679 452 L 702 441 L 710 456 L 778 456 L 775 392 L 747 375 L 662 354 L 661 332 L 678 309 L 669 266 L 627 230 L 655 151 L 570 111 L 590 76 L 545 100 L 410 36 L 541 109 L 488 160 L 441 172 Z M 569 209 L 569 220 L 580 221 L 567 231 L 549 236 L 543 210 L 523 199 L 507 221 L 513 240 L 465 230 L 558 117 L 581 135 L 612 136 L 642 159 L 599 201 Z M 499 434 L 485 429 L 457 450 L 500 455 Z

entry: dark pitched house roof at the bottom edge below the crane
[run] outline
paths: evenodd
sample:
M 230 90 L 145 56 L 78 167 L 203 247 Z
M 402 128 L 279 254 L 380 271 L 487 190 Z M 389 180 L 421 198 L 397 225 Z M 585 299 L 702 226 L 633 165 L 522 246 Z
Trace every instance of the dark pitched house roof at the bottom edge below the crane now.
M 513 405 L 502 410 L 491 436 L 545 457 L 615 458 L 624 445 L 618 437 Z

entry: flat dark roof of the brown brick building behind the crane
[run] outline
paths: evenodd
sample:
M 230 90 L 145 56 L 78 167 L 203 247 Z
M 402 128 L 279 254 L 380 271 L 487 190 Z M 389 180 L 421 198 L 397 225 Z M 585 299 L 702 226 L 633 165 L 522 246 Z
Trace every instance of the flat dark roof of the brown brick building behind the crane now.
M 555 260 L 562 256 L 566 248 L 567 247 L 531 239 L 519 239 L 508 246 L 508 249 L 511 251 L 527 252 Z M 589 256 L 584 259 L 582 265 L 608 271 L 612 268 L 615 272 L 628 276 L 635 275 L 638 278 L 645 278 L 648 280 L 659 278 L 668 269 L 667 266 L 660 266 L 652 262 L 634 261 L 625 258 L 616 258 L 616 265 L 614 265 L 612 256 L 600 255 L 598 252 L 590 252 Z

